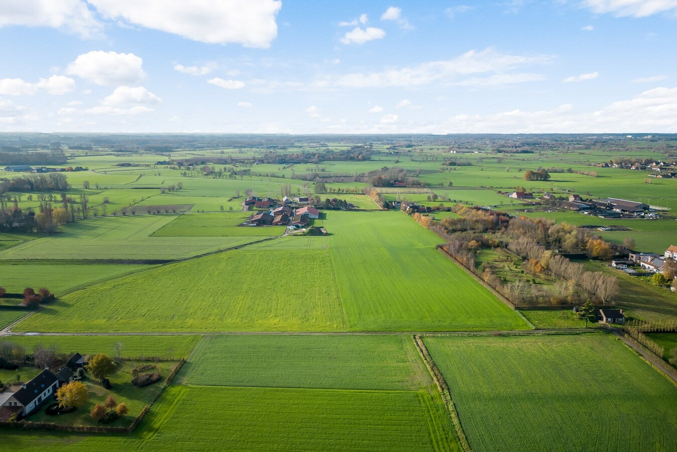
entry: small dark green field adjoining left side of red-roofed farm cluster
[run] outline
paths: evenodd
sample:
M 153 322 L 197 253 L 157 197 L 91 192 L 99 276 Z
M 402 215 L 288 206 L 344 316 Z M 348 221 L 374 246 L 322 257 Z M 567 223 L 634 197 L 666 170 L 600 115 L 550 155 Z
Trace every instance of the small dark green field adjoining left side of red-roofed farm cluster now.
M 252 212 L 185 213 L 152 233 L 154 237 L 223 237 L 282 235 L 284 226 L 242 226 Z

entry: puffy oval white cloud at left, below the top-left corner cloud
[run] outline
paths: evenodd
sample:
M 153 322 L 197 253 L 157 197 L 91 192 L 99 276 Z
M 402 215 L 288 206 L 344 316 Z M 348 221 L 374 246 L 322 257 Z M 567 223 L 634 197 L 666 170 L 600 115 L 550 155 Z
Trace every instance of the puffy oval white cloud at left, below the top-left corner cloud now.
M 66 74 L 77 75 L 96 85 L 119 86 L 139 83 L 146 75 L 143 60 L 133 53 L 93 50 L 66 67 Z

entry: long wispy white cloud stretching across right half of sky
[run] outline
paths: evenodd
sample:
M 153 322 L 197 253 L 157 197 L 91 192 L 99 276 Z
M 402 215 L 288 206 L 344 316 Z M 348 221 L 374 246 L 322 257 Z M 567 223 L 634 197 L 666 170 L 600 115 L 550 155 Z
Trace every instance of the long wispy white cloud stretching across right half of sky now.
M 529 64 L 547 64 L 548 55 L 508 55 L 491 47 L 483 51 L 471 50 L 453 60 L 433 61 L 390 69 L 384 72 L 346 74 L 338 85 L 347 87 L 406 87 L 428 85 L 433 82 L 458 83 L 459 77 L 486 72 L 500 72 Z

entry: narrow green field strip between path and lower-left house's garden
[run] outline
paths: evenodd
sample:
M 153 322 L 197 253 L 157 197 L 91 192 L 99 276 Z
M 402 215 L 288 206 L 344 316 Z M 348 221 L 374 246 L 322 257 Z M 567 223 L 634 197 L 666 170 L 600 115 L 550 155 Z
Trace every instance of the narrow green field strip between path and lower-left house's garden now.
M 2 311 L 0 311 L 2 312 Z M 81 353 L 95 355 L 105 353 L 117 356 L 116 342 L 122 344 L 121 357 L 160 357 L 160 359 L 178 359 L 188 357 L 192 349 L 200 341 L 200 336 L 5 336 L 2 342 L 20 344 L 27 351 L 35 346 L 53 348 L 57 353 Z

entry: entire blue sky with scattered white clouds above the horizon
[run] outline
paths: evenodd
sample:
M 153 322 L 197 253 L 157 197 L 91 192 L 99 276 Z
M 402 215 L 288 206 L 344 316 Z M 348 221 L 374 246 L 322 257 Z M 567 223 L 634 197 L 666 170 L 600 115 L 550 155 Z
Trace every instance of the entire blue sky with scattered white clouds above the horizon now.
M 677 133 L 677 0 L 3 0 L 0 131 Z

